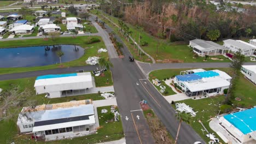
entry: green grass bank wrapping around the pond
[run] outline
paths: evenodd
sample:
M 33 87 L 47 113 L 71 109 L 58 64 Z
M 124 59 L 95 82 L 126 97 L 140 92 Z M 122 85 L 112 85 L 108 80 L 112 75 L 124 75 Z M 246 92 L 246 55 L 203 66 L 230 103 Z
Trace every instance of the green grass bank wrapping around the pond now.
M 91 36 L 90 38 L 98 38 L 98 36 Z M 105 48 L 105 45 L 101 39 L 100 43 L 94 44 L 85 44 L 85 41 L 90 39 L 89 37 L 63 37 L 63 38 L 56 38 L 54 41 L 49 38 L 49 40 L 44 39 L 27 39 L 27 40 L 13 40 L 11 41 L 1 41 L 0 47 L 22 47 L 22 46 L 38 46 L 38 45 L 58 45 L 58 44 L 76 44 L 85 49 L 85 55 L 76 59 L 71 62 L 62 63 L 62 67 L 74 67 L 74 66 L 82 66 L 86 65 L 85 61 L 90 56 L 99 56 L 99 57 L 108 57 L 107 52 L 98 53 L 97 50 L 101 48 Z M 45 70 L 45 69 L 55 69 L 60 68 L 60 64 L 53 64 L 53 65 L 45 65 L 42 67 L 27 67 L 27 68 L 0 68 L 0 74 L 7 74 L 7 73 L 19 73 L 25 71 L 34 71 L 34 70 Z

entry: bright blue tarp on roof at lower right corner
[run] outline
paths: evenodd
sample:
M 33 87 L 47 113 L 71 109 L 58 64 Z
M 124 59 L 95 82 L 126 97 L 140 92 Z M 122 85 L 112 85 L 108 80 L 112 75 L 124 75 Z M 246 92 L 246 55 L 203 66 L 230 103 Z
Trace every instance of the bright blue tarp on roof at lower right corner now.
M 231 113 L 224 118 L 234 125 L 243 134 L 256 130 L 256 107 L 253 109 Z

